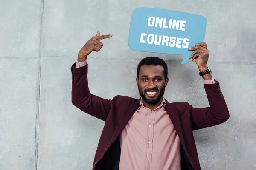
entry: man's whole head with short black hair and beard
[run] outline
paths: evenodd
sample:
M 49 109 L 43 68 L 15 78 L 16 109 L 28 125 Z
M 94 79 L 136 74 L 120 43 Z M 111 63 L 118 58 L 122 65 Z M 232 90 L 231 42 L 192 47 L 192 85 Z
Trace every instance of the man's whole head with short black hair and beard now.
M 142 59 L 137 68 L 137 85 L 142 99 L 155 105 L 163 97 L 168 83 L 168 67 L 163 59 L 146 57 Z

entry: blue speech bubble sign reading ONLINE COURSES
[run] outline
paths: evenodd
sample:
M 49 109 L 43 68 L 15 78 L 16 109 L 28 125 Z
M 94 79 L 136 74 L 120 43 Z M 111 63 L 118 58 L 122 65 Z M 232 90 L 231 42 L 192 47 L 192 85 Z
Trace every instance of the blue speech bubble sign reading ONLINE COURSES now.
M 132 12 L 129 47 L 134 51 L 180 54 L 181 64 L 194 51 L 188 48 L 204 42 L 206 18 L 157 8 L 136 8 Z

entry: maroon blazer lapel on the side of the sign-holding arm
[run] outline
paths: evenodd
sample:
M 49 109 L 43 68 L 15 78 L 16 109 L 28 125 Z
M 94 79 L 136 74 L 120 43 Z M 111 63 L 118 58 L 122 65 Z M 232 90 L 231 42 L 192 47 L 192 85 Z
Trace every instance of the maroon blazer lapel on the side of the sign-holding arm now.
M 178 112 L 177 109 L 175 108 L 174 105 L 170 104 L 167 102 L 166 100 L 166 106 L 165 109 L 167 111 L 167 113 L 169 114 L 169 117 L 172 121 L 172 124 L 177 132 L 177 135 L 180 138 L 180 142 L 183 145 L 183 147 L 185 147 L 185 143 L 184 143 L 184 139 L 183 139 L 183 135 L 182 135 L 182 130 L 181 130 L 181 126 L 180 126 L 180 119 L 178 116 Z

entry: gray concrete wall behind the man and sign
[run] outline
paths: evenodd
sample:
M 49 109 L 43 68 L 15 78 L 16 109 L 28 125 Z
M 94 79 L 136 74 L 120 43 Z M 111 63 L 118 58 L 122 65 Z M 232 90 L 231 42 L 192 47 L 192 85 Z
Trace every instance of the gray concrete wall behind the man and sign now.
M 91 169 L 104 122 L 71 103 L 71 65 L 87 40 L 90 91 L 139 98 L 136 67 L 146 56 L 169 66 L 169 102 L 209 106 L 195 62 L 132 51 L 131 13 L 153 7 L 207 18 L 208 66 L 230 110 L 222 125 L 194 132 L 202 169 L 256 169 L 255 0 L 0 0 L 0 170 Z

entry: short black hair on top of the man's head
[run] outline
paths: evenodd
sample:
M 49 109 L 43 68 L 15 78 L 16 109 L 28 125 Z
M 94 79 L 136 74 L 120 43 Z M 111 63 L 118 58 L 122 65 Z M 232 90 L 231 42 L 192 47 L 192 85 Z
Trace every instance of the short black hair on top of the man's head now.
M 140 68 L 143 65 L 161 65 L 163 66 L 163 74 L 164 78 L 166 79 L 168 76 L 168 67 L 166 62 L 163 59 L 160 59 L 158 57 L 146 57 L 140 61 L 137 68 L 137 77 L 139 78 L 140 74 Z

